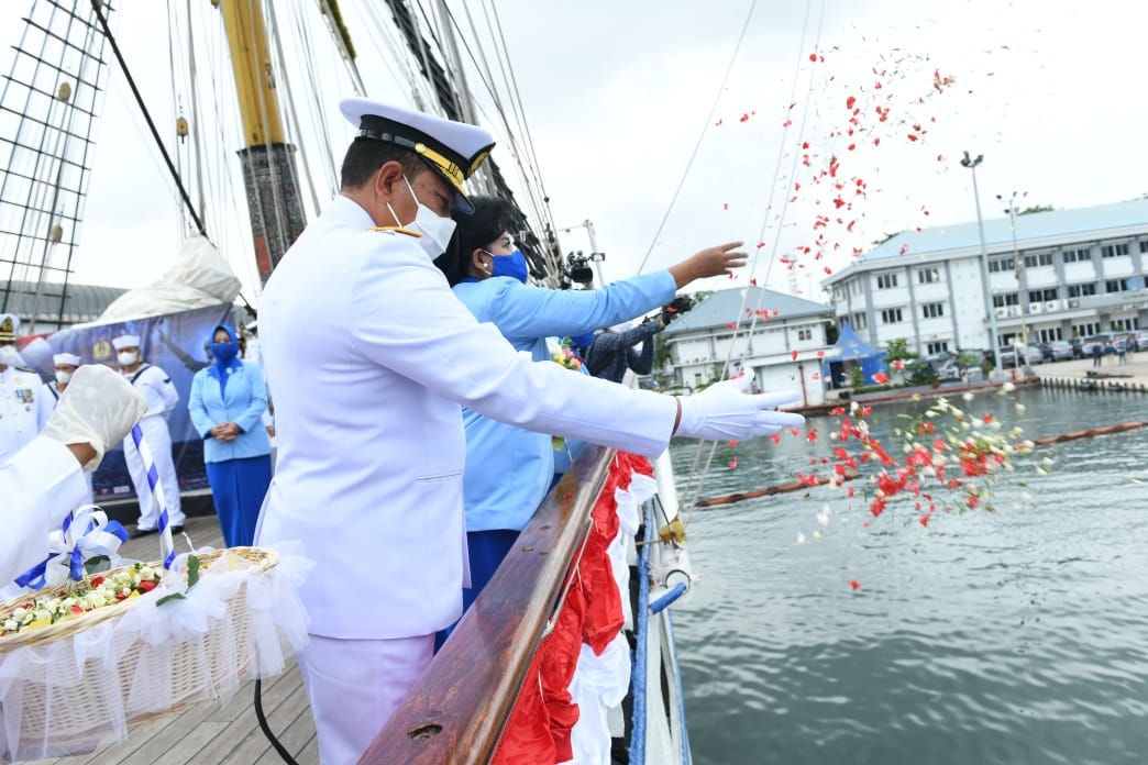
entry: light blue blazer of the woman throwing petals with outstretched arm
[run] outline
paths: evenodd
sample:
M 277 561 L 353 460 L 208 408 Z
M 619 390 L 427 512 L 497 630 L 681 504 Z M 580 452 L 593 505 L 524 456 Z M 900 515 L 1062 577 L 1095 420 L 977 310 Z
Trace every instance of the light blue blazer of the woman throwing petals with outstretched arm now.
M 549 361 L 546 337 L 574 337 L 639 317 L 674 299 L 668 271 L 595 290 L 557 290 L 492 276 L 455 286 L 455 295 L 482 322 L 492 322 L 519 351 Z M 579 374 L 571 370 L 569 374 Z M 466 530 L 521 530 L 546 495 L 554 475 L 550 436 L 509 426 L 463 408 Z

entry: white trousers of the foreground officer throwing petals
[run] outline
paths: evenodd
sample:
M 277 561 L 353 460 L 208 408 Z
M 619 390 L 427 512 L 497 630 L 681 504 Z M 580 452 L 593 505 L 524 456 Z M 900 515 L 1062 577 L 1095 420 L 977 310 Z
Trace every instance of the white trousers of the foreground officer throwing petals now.
M 355 765 L 433 656 L 433 634 L 395 640 L 311 635 L 298 669 L 311 701 L 319 762 Z

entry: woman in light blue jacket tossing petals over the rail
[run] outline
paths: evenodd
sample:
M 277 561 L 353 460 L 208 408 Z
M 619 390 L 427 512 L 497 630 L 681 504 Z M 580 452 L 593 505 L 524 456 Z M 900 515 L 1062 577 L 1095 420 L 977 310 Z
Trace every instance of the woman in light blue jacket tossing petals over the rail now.
M 456 216 L 450 255 L 436 260 L 455 295 L 481 322 L 491 322 L 519 351 L 549 361 L 548 337 L 576 337 L 660 309 L 704 276 L 722 276 L 745 263 L 740 242 L 711 247 L 667 270 L 595 290 L 554 290 L 526 283 L 526 257 L 510 234 L 510 202 L 473 196 L 473 214 Z M 464 609 L 494 576 L 519 531 L 534 515 L 554 475 L 551 434 L 540 434 L 463 409 L 466 426 L 466 536 L 471 586 Z M 571 436 L 558 432 L 554 436 Z M 440 642 L 442 638 L 440 638 Z

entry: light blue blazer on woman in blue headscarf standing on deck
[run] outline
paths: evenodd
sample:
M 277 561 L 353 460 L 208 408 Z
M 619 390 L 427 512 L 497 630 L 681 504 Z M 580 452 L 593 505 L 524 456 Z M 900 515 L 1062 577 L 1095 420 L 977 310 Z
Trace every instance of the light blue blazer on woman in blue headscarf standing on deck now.
M 195 373 L 187 411 L 192 424 L 203 438 L 203 461 L 225 462 L 271 453 L 271 439 L 263 427 L 263 412 L 267 408 L 267 388 L 263 372 L 250 361 L 235 367 L 227 378 L 227 392 L 219 393 L 219 378 L 211 374 L 214 367 Z M 220 422 L 234 422 L 242 430 L 235 440 L 222 443 L 209 436 Z

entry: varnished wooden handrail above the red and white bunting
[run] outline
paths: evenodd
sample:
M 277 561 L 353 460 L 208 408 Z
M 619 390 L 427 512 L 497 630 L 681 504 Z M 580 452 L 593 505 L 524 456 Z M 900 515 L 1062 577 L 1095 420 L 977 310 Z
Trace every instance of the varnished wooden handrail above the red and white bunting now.
M 546 495 L 362 765 L 481 765 L 498 746 L 580 554 L 614 450 L 587 445 Z

